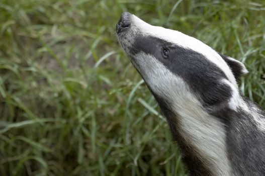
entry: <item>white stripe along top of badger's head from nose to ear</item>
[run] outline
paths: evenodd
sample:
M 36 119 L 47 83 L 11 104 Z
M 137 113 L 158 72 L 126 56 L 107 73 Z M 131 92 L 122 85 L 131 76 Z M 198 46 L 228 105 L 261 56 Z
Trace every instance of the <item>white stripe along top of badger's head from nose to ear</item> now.
M 174 30 L 165 29 L 159 26 L 149 25 L 148 23 L 142 21 L 141 19 L 139 19 L 138 17 L 134 15 L 132 16 L 132 21 L 135 27 L 137 28 L 137 30 L 141 31 L 142 35 L 160 38 L 170 43 L 174 43 L 184 48 L 189 48 L 198 53 L 201 53 L 208 60 L 213 62 L 215 65 L 217 65 L 225 73 L 229 81 L 231 81 L 231 83 L 235 87 L 238 87 L 231 69 L 226 64 L 226 62 L 222 59 L 222 57 L 215 50 L 213 50 L 211 47 L 204 44 L 200 40 L 197 40 L 193 37 L 185 35 L 179 31 L 174 31 Z

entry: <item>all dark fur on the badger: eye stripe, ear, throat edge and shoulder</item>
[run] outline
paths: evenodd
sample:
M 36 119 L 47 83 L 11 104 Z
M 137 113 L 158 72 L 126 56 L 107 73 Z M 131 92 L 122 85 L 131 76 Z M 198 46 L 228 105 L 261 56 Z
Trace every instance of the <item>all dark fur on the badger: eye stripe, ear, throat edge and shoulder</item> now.
M 122 44 L 126 45 L 126 42 Z M 173 74 L 182 77 L 205 110 L 213 115 L 213 118 L 223 122 L 226 130 L 227 153 L 235 175 L 265 175 L 265 135 L 258 129 L 257 122 L 253 119 L 254 113 L 258 114 L 258 118 L 264 119 L 265 112 L 244 97 L 244 103 L 253 112 L 248 114 L 242 109 L 230 109 L 227 103 L 232 96 L 232 90 L 221 82 L 227 77 L 220 68 L 194 50 L 152 36 L 137 34 L 134 43 L 126 47 L 129 49 L 130 57 L 139 52 L 153 55 Z M 168 57 L 163 55 L 163 50 L 168 51 Z M 239 81 L 243 74 L 243 65 L 222 54 L 220 56 Z M 135 61 L 133 64 L 139 72 L 141 63 Z M 146 84 L 148 86 L 148 82 Z M 148 88 L 152 92 L 149 86 Z M 209 168 L 211 163 L 197 151 L 196 146 L 185 139 L 185 133 L 181 131 L 179 124 L 180 116 L 171 109 L 171 102 L 154 92 L 152 94 L 166 117 L 173 139 L 181 147 L 183 161 L 187 164 L 190 175 L 215 175 L 216 173 Z

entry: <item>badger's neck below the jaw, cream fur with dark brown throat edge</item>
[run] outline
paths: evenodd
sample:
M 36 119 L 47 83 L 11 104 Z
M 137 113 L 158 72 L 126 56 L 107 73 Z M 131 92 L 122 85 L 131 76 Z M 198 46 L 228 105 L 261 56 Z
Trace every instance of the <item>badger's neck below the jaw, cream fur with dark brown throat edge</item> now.
M 198 104 L 179 105 L 155 96 L 191 175 L 233 175 L 223 122 Z

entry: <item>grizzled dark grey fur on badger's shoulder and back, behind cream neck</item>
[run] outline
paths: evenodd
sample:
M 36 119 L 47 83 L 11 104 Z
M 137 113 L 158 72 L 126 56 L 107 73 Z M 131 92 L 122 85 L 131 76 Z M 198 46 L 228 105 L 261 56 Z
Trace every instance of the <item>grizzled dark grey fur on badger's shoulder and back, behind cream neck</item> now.
M 258 105 L 244 98 L 250 109 L 257 108 L 259 118 L 265 120 L 265 112 Z M 252 113 L 257 113 L 253 111 Z M 226 124 L 229 159 L 239 175 L 265 175 L 265 134 L 257 130 L 252 114 L 239 110 L 230 114 Z

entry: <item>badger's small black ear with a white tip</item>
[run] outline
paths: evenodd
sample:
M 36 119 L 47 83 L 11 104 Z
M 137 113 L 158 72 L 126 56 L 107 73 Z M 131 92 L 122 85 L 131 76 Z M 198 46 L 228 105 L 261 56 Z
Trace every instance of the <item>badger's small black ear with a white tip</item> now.
M 237 82 L 240 80 L 242 75 L 248 73 L 248 70 L 246 69 L 245 65 L 242 62 L 232 57 L 225 56 L 223 54 L 220 54 L 220 56 L 225 60 L 227 65 L 232 70 Z

